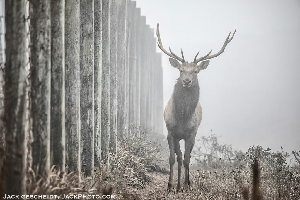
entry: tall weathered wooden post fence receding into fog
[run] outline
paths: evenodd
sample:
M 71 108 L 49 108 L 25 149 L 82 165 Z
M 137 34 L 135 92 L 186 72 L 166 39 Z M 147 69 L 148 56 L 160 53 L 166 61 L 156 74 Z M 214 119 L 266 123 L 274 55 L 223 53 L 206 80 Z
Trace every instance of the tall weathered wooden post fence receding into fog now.
M 136 1 L 0 5 L 7 194 L 25 193 L 28 163 L 93 176 L 131 125 L 162 134 L 161 54 Z

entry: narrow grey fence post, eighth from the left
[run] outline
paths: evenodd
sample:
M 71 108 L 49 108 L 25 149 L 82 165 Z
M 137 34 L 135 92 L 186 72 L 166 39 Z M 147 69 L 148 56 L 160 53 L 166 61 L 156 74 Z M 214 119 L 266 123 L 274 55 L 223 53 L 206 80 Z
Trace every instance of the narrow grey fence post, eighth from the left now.
M 118 130 L 118 0 L 110 2 L 110 152 L 117 152 Z

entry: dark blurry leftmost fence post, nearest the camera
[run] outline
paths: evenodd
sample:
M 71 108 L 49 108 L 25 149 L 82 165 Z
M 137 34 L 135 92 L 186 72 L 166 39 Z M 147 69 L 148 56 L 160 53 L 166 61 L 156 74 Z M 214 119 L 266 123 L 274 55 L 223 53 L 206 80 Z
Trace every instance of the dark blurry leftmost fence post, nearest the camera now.
M 5 1 L 4 121 L 7 166 L 0 183 L 7 195 L 26 194 L 26 0 Z M 2 19 L 3 20 L 3 19 Z M 49 27 L 48 27 L 49 28 Z M 3 173 L 3 174 L 2 174 Z M 3 181 L 3 180 L 2 180 Z M 6 187 L 4 186 L 6 184 Z M 2 197 L 4 194 L 0 194 Z

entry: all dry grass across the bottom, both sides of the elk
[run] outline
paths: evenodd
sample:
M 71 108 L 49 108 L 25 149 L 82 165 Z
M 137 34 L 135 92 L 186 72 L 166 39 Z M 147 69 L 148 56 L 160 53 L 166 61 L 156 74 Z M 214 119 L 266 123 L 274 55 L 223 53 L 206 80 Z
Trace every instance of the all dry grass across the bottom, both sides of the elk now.
M 110 154 L 108 166 L 95 169 L 93 178 L 81 175 L 79 181 L 76 173 L 60 172 L 54 166 L 47 177 L 37 178 L 29 169 L 27 194 L 111 193 L 117 199 L 300 199 L 300 174 L 297 170 L 289 174 L 278 172 L 276 177 L 261 176 L 261 169 L 265 167 L 261 168 L 257 159 L 245 170 L 233 169 L 228 163 L 191 167 L 190 192 L 167 195 L 169 175 L 166 174 L 165 149 L 161 143 L 147 139 L 149 132 L 139 128 L 134 130 L 121 139 L 118 153 Z M 218 166 L 217 169 L 214 166 Z M 183 174 L 182 170 L 182 185 Z M 176 187 L 176 171 L 173 177 Z

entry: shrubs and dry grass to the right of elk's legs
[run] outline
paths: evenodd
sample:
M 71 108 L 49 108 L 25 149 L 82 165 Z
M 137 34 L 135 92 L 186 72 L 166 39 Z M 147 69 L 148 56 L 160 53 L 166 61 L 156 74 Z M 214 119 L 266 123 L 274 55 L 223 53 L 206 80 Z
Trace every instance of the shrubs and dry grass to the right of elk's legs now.
M 260 145 L 247 152 L 220 144 L 219 137 L 202 136 L 193 157 L 197 161 L 196 176 L 192 177 L 192 191 L 201 193 L 200 199 L 299 199 L 300 174 L 286 159 L 289 154 L 272 152 Z M 295 166 L 297 151 L 291 155 Z M 220 170 L 221 169 L 221 170 Z M 292 170 L 292 171 L 291 171 Z M 294 171 L 293 171 L 294 170 Z M 193 194 L 193 196 L 194 196 Z M 175 198 L 176 199 L 176 198 Z M 191 198 L 192 199 L 192 198 Z

